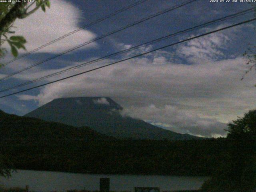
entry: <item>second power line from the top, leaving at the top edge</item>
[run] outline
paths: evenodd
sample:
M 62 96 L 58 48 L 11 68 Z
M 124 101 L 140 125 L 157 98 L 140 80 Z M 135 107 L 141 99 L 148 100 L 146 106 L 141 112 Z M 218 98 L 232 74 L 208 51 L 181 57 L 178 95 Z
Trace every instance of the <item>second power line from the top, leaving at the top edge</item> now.
M 164 13 L 170 12 L 170 11 L 172 11 L 172 10 L 175 10 L 175 9 L 177 9 L 177 8 L 180 8 L 180 7 L 182 7 L 182 6 L 185 6 L 185 5 L 187 5 L 187 4 L 190 4 L 190 3 L 194 2 L 194 1 L 196 1 L 196 0 L 189 0 L 189 1 L 183 2 L 183 3 L 180 4 L 180 5 L 176 5 L 176 6 L 173 6 L 173 7 L 171 7 L 171 8 L 167 8 L 167 9 L 165 9 L 165 10 L 162 10 L 162 11 L 160 11 L 160 12 L 157 12 L 156 14 L 152 14 L 152 15 L 146 17 L 146 18 L 142 18 L 141 20 L 138 20 L 138 21 L 136 21 L 136 22 L 133 22 L 132 24 L 128 24 L 128 25 L 126 25 L 126 26 L 124 26 L 124 27 L 121 27 L 121 28 L 119 28 L 119 29 L 117 29 L 117 30 L 114 30 L 114 31 L 112 31 L 112 32 L 109 32 L 109 33 L 107 33 L 107 34 L 104 34 L 104 35 L 102 35 L 102 36 L 100 36 L 100 37 L 98 37 L 98 38 L 95 38 L 95 39 L 93 39 L 93 40 L 90 40 L 90 41 L 88 41 L 88 42 L 84 42 L 83 44 L 80 44 L 80 45 L 78 45 L 78 46 L 75 46 L 75 47 L 73 47 L 73 48 L 71 48 L 71 49 L 69 49 L 69 50 L 66 50 L 66 51 L 64 51 L 64 52 L 62 52 L 62 53 L 56 55 L 56 56 L 52 56 L 52 57 L 47 58 L 47 59 L 45 59 L 45 60 L 43 60 L 43 61 L 41 61 L 41 62 L 38 62 L 38 63 L 36 63 L 36 64 L 33 64 L 33 65 L 28 66 L 28 67 L 26 67 L 26 68 L 23 68 L 23 69 L 21 69 L 21 70 L 19 70 L 19 71 L 17 71 L 17 72 L 14 72 L 14 73 L 12 73 L 12 74 L 9 74 L 9 75 L 7 75 L 7 76 L 5 76 L 5 77 L 3 77 L 3 78 L 0 78 L 0 81 L 5 80 L 5 79 L 7 79 L 7 78 L 9 78 L 9 77 L 11 77 L 11 76 L 14 76 L 14 75 L 16 75 L 16 74 L 19 74 L 20 72 L 26 71 L 26 70 L 28 70 L 28 69 L 30 69 L 30 68 L 35 67 L 35 66 L 38 66 L 38 65 L 40 65 L 40 64 L 42 64 L 42 63 L 44 63 L 44 62 L 46 62 L 46 61 L 49 61 L 49 60 L 52 60 L 52 59 L 57 58 L 57 57 L 59 57 L 59 56 L 62 56 L 62 55 L 64 55 L 64 54 L 68 53 L 68 52 L 71 52 L 71 51 L 73 51 L 73 50 L 76 50 L 76 49 L 78 49 L 78 48 L 81 48 L 81 47 L 83 47 L 83 46 L 85 46 L 85 45 L 88 45 L 88 44 L 90 44 L 90 43 L 92 43 L 92 42 L 95 42 L 96 40 L 100 40 L 100 39 L 102 39 L 102 38 L 105 38 L 105 37 L 110 36 L 110 35 L 112 35 L 112 34 L 115 34 L 115 33 L 117 33 L 117 32 L 120 32 L 120 31 L 122 31 L 122 30 L 124 30 L 124 29 L 130 28 L 130 27 L 135 26 L 135 25 L 137 25 L 137 24 L 140 24 L 140 23 L 142 23 L 142 22 L 144 22 L 144 21 L 150 20 L 150 19 L 152 19 L 152 18 L 154 18 L 154 17 L 156 17 L 156 16 L 160 16 L 160 15 L 162 15 L 162 14 L 164 14 Z

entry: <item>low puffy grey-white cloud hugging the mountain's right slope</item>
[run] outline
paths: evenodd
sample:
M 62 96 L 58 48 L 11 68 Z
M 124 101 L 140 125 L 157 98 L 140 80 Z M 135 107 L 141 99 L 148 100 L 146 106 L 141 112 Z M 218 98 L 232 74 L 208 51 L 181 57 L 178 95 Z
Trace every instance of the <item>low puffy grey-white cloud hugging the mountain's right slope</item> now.
M 215 119 L 201 118 L 190 110 L 182 110 L 176 106 L 156 107 L 154 104 L 145 107 L 130 106 L 122 111 L 124 116 L 139 118 L 166 129 L 193 135 L 212 137 L 225 136 L 226 124 Z

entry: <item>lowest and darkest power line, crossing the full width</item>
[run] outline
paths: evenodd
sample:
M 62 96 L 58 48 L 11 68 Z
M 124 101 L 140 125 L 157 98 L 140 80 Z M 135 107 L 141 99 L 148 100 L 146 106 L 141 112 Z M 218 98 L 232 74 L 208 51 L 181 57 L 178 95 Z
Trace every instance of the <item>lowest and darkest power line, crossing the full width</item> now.
M 130 58 L 126 58 L 126 59 L 123 59 L 123 60 L 119 60 L 119 61 L 116 61 L 116 62 L 112 62 L 110 64 L 106 64 L 104 66 L 100 66 L 100 67 L 97 67 L 97 68 L 94 68 L 94 69 L 91 69 L 91 70 L 87 70 L 87 71 L 84 71 L 84 72 L 81 72 L 81 73 L 78 73 L 78 74 L 74 74 L 74 75 L 71 75 L 71 76 L 68 76 L 68 77 L 65 77 L 65 78 L 61 78 L 61 79 L 58 79 L 58 80 L 54 80 L 52 82 L 48 82 L 48 83 L 44 83 L 44 84 L 41 84 L 41 85 L 38 85 L 38 86 L 34 86 L 32 88 L 28 88 L 28 89 L 24 89 L 24 90 L 21 90 L 21 91 L 18 91 L 18 92 L 15 92 L 15 93 L 11 93 L 11 94 L 7 94 L 7 95 L 4 95 L 4 96 L 1 96 L 0 98 L 4 98 L 4 97 L 7 97 L 7 96 L 11 96 L 11 95 L 15 95 L 15 94 L 18 94 L 18 93 L 21 93 L 21 92 L 25 92 L 25 91 L 28 91 L 28 90 L 32 90 L 32 89 L 35 89 L 35 88 L 39 88 L 39 87 L 42 87 L 42 86 L 46 86 L 46 85 L 49 85 L 49 84 L 52 84 L 52 83 L 55 83 L 55 82 L 59 82 L 59 81 L 62 81 L 62 80 L 66 80 L 68 78 L 72 78 L 72 77 L 75 77 L 75 76 L 79 76 L 79 75 L 82 75 L 82 74 L 85 74 L 85 73 L 88 73 L 88 72 L 92 72 L 92 71 L 95 71 L 95 70 L 98 70 L 98 69 L 101 69 L 101 68 L 105 68 L 107 66 L 111 66 L 111 65 L 114 65 L 114 64 L 117 64 L 117 63 L 120 63 L 120 62 L 124 62 L 126 60 L 130 60 L 130 59 L 133 59 L 133 58 L 136 58 L 136 57 L 139 57 L 139 56 L 143 56 L 143 55 L 146 55 L 146 54 L 149 54 L 151 52 L 154 52 L 154 51 L 157 51 L 157 50 L 161 50 L 161 49 L 164 49 L 164 48 L 167 48 L 167 47 L 170 47 L 170 46 L 174 46 L 174 45 L 177 45 L 177 44 L 180 44 L 180 43 L 183 43 L 183 42 L 186 42 L 186 41 L 189 41 L 189 40 L 193 40 L 193 39 L 196 39 L 196 38 L 200 38 L 202 36 L 206 36 L 206 35 L 209 35 L 209 34 L 212 34 L 212 33 L 216 33 L 216 32 L 219 32 L 219 31 L 222 31 L 222 30 L 225 30 L 225 29 L 228 29 L 228 28 L 232 28 L 232 27 L 235 27 L 235 26 L 238 26 L 238 25 L 241 25 L 241 24 L 245 24 L 245 23 L 248 23 L 248 22 L 252 22 L 252 21 L 255 21 L 256 18 L 253 18 L 253 19 L 250 19 L 250 20 L 246 20 L 246 21 L 243 21 L 243 22 L 240 22 L 240 23 L 237 23 L 237 24 L 233 24 L 233 25 L 230 25 L 230 26 L 227 26 L 227 27 L 224 27 L 224 28 L 220 28 L 218 30 L 213 30 L 211 32 L 207 32 L 207 33 L 204 33 L 204 34 L 201 34 L 201 35 L 198 35 L 198 36 L 194 36 L 192 38 L 188 38 L 188 39 L 185 39 L 185 40 L 181 40 L 179 42 L 176 42 L 176 43 L 172 43 L 172 44 L 169 44 L 169 45 L 166 45 L 166 46 L 162 46 L 160 48 L 156 48 L 154 50 L 151 50 L 151 51 L 148 51 L 148 52 L 144 52 L 142 54 L 138 54 L 136 56 L 132 56 Z

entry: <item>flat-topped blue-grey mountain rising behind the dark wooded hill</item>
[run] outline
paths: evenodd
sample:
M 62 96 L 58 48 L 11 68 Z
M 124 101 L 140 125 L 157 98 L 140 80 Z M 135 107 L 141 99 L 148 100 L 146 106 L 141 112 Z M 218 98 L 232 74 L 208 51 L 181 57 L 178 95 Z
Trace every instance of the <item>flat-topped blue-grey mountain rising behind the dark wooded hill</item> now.
M 58 98 L 26 114 L 26 117 L 60 122 L 71 126 L 88 126 L 97 132 L 116 138 L 152 140 L 189 140 L 198 137 L 179 134 L 144 122 L 124 117 L 122 106 L 111 98 Z

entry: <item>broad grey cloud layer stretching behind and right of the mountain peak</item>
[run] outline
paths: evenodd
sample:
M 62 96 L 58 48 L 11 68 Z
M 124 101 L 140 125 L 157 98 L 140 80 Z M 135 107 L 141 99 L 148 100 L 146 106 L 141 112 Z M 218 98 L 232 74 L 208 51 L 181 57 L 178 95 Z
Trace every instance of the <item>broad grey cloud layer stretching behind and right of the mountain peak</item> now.
M 248 87 L 254 84 L 254 74 L 240 80 L 245 69 L 242 58 L 185 65 L 164 62 L 168 56 L 162 54 L 165 59 L 159 65 L 154 63 L 156 57 L 161 54 L 50 84 L 31 99 L 42 105 L 60 97 L 106 95 L 135 118 L 204 136 L 224 135 L 226 123 L 256 107 L 256 89 Z M 77 72 L 81 69 L 68 74 Z

